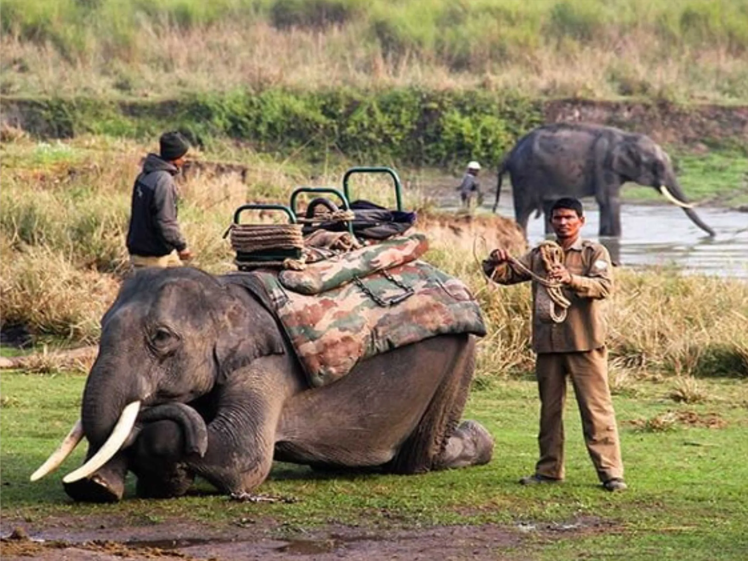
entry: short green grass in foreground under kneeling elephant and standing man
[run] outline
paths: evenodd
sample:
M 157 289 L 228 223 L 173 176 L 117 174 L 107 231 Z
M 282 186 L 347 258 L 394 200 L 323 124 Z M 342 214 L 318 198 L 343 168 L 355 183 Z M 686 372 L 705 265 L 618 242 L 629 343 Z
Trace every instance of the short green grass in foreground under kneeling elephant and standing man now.
M 598 488 L 583 448 L 578 414 L 566 414 L 567 482 L 559 487 L 522 488 L 516 479 L 530 473 L 536 459 L 536 387 L 533 381 L 494 380 L 474 390 L 466 417 L 488 427 L 496 438 L 491 464 L 425 476 L 321 476 L 307 468 L 278 464 L 261 488 L 292 496 L 295 504 L 248 506 L 223 497 L 177 501 L 127 500 L 116 506 L 73 505 L 55 473 L 40 482 L 28 474 L 43 462 L 75 420 L 85 378 L 75 375 L 2 374 L 0 461 L 5 513 L 43 527 L 51 515 L 73 515 L 85 527 L 90 516 L 123 516 L 132 524 L 162 524 L 193 518 L 227 524 L 239 518 L 272 517 L 295 533 L 316 524 L 414 527 L 429 524 L 534 525 L 599 518 L 589 533 L 555 531 L 526 534 L 514 555 L 548 559 L 623 557 L 651 559 L 740 559 L 748 548 L 748 387 L 733 380 L 702 381 L 707 401 L 673 402 L 670 382 L 638 381 L 615 396 L 631 490 L 607 494 Z M 668 430 L 640 430 L 636 421 L 662 418 L 666 411 L 717 415 L 723 428 L 675 423 Z M 659 416 L 659 417 L 658 417 Z M 652 423 L 654 424 L 654 423 Z M 69 471 L 82 451 L 65 462 Z M 206 490 L 207 488 L 204 487 Z M 129 484 L 132 496 L 132 482 Z M 334 513 L 334 514 L 331 514 Z M 77 518 L 82 517 L 82 518 Z M 282 531 L 282 530 L 281 530 Z

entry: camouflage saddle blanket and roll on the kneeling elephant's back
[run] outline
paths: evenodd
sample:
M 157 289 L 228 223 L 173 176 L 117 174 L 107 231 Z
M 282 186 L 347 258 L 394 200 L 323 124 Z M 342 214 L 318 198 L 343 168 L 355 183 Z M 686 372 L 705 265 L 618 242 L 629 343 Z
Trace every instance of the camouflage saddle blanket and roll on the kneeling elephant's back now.
M 226 278 L 251 289 L 275 314 L 310 385 L 319 387 L 358 361 L 429 337 L 485 335 L 468 287 L 417 259 L 427 247 L 418 234 L 301 272 L 266 269 Z

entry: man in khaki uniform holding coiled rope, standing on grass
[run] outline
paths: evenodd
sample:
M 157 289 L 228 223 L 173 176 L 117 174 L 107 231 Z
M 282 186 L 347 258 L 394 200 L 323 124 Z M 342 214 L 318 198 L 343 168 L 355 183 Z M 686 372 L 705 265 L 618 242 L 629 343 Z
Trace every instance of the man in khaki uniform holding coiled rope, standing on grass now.
M 584 441 L 598 478 L 608 491 L 626 488 L 616 414 L 607 382 L 605 304 L 613 291 L 610 256 L 604 246 L 583 240 L 581 203 L 558 200 L 551 224 L 560 245 L 557 262 L 548 263 L 547 245 L 517 260 L 498 248 L 483 262 L 483 271 L 500 284 L 532 281 L 533 350 L 541 402 L 540 459 L 524 485 L 564 479 L 563 408 L 566 376 L 577 397 Z M 544 282 L 545 280 L 545 282 Z M 549 298 L 551 289 L 560 289 Z M 558 308 L 563 308 L 561 313 Z

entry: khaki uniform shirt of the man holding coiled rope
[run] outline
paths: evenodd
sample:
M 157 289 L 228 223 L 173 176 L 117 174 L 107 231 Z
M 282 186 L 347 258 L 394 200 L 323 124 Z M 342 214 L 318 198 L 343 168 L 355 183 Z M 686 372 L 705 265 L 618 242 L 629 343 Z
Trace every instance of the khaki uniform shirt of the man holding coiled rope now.
M 538 248 L 520 257 L 519 261 L 539 277 L 548 276 Z M 613 267 L 607 249 L 577 238 L 574 245 L 564 251 L 564 265 L 571 273 L 571 283 L 562 290 L 571 305 L 561 323 L 548 318 L 548 313 L 539 313 L 537 293 L 541 285 L 533 280 L 533 349 L 537 353 L 589 351 L 605 344 L 604 300 L 613 292 Z M 500 284 L 532 279 L 511 263 L 502 263 L 494 269 L 484 261 L 483 270 Z

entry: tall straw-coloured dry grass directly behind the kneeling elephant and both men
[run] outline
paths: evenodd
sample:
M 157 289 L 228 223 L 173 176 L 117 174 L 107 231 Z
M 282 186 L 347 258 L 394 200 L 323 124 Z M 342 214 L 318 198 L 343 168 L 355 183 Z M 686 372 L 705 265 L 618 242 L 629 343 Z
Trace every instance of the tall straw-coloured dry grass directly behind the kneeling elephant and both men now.
M 0 147 L 3 325 L 20 323 L 72 342 L 96 340 L 99 318 L 126 269 L 130 190 L 150 148 L 99 137 L 54 145 L 20 139 Z M 225 150 L 231 156 L 233 149 Z M 181 184 L 180 221 L 197 254 L 195 264 L 209 272 L 234 269 L 221 236 L 239 204 L 285 203 L 304 184 L 340 186 L 342 169 L 293 168 L 251 153 L 244 158 L 245 180 L 195 174 Z M 393 205 L 387 177 L 359 177 L 353 189 L 358 197 Z M 425 202 L 423 194 L 406 194 L 407 208 Z M 429 230 L 429 223 L 436 226 Z M 478 261 L 495 240 L 475 243 L 475 224 L 459 242 L 445 235 L 438 220 L 423 224 L 434 233 L 429 261 L 465 280 L 481 304 L 488 335 L 479 344 L 479 375 L 530 372 L 530 287 L 485 282 Z M 625 390 L 628 375 L 748 377 L 748 283 L 672 269 L 620 269 L 616 283 L 609 346 L 619 390 Z

